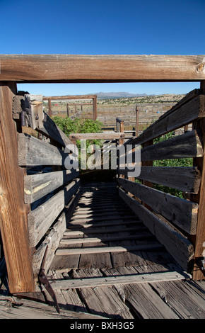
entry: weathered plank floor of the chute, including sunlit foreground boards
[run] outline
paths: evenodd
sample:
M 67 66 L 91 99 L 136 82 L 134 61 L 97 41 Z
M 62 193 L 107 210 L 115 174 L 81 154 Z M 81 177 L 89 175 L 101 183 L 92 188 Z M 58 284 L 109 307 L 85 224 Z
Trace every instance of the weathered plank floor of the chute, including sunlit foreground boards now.
M 190 281 L 116 184 L 82 186 L 48 275 L 67 310 L 116 319 L 205 317 L 204 285 Z

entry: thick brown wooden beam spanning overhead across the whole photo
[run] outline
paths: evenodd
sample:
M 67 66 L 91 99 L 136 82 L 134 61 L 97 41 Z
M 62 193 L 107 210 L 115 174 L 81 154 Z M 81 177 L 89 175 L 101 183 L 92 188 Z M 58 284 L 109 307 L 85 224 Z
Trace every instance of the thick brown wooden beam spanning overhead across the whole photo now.
M 0 55 L 1 81 L 201 81 L 205 55 Z

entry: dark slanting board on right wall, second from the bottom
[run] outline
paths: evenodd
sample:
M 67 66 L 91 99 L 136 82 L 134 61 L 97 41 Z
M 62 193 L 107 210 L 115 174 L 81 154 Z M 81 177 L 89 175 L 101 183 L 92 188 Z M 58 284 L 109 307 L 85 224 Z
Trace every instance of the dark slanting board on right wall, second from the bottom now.
M 149 205 L 189 235 L 196 235 L 198 204 L 177 198 L 154 188 L 134 183 L 127 179 L 118 179 L 119 186 Z

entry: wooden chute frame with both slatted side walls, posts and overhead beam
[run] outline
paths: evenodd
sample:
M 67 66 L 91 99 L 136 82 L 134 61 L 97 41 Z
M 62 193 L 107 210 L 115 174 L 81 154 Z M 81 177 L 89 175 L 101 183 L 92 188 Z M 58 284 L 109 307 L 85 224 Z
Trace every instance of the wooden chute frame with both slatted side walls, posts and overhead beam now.
M 65 149 L 71 141 L 43 113 L 40 96 L 18 96 L 16 84 L 21 82 L 201 81 L 201 89 L 126 142 L 143 147 L 139 178 L 144 184 L 126 179 L 126 169 L 119 171 L 124 178 L 118 181 L 119 196 L 172 256 L 184 269 L 194 264 L 194 279 L 204 278 L 204 57 L 0 55 L 0 227 L 11 293 L 35 290 L 45 249 L 46 270 L 81 195 L 78 171 L 64 169 L 73 153 Z M 189 123 L 191 132 L 153 145 L 154 138 Z M 40 133 L 42 140 L 27 135 L 22 125 Z M 194 165 L 152 166 L 154 159 L 178 157 L 194 157 Z M 191 193 L 191 200 L 156 191 L 152 183 L 180 188 Z

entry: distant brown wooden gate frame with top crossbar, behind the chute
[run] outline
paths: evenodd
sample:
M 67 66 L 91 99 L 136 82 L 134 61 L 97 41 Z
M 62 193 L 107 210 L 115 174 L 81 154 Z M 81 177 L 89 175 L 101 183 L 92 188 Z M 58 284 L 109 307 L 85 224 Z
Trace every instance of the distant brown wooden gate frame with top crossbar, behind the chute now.
M 44 96 L 43 101 L 48 101 L 49 117 L 52 116 L 51 101 L 67 101 L 72 99 L 92 99 L 93 100 L 93 120 L 97 119 L 97 95 L 76 95 L 76 96 Z M 69 115 L 69 104 L 67 103 L 67 114 Z

